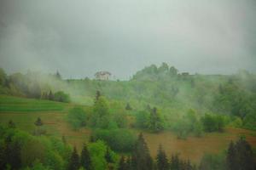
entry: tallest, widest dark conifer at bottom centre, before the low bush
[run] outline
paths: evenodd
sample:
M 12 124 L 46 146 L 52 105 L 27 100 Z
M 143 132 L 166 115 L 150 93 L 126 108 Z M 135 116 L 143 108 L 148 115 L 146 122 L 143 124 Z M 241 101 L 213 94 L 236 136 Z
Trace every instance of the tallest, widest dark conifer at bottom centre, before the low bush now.
M 149 155 L 148 145 L 143 138 L 143 133 L 138 136 L 131 161 L 134 170 L 153 169 L 153 160 Z

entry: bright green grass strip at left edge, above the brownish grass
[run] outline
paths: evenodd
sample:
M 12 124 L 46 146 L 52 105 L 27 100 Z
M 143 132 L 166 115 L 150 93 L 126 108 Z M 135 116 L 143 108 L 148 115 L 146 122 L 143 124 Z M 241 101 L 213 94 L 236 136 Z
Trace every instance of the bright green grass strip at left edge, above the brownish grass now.
M 0 95 L 0 112 L 63 111 L 67 104 L 42 99 Z

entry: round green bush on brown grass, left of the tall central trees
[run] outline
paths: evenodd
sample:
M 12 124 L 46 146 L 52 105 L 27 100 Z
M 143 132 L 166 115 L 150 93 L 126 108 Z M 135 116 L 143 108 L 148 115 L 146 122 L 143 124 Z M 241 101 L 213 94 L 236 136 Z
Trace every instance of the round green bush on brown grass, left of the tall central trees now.
M 67 122 L 69 122 L 75 130 L 79 129 L 79 127 L 84 127 L 86 120 L 87 114 L 81 107 L 74 107 L 67 114 Z

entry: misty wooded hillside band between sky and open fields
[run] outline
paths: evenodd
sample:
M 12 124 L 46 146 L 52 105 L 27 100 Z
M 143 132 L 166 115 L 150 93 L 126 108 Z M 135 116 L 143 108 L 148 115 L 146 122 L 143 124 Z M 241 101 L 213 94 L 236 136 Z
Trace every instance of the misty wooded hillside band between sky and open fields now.
M 164 115 L 182 115 L 193 109 L 200 115 L 212 112 L 241 120 L 256 119 L 256 76 L 247 71 L 228 76 L 189 75 L 163 63 L 137 71 L 130 81 L 97 81 L 62 80 L 60 73 L 7 76 L 2 70 L 1 84 L 1 94 L 30 98 L 93 105 L 96 91 L 100 91 L 111 105 L 125 107 L 129 103 L 136 111 L 149 106 L 157 107 Z

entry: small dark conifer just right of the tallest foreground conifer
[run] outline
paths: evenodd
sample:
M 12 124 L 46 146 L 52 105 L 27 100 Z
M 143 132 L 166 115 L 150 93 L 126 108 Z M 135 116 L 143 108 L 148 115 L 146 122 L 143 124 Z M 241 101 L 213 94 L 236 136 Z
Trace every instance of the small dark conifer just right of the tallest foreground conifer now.
M 156 165 L 157 165 L 158 170 L 168 170 L 169 169 L 168 160 L 166 158 L 166 153 L 162 149 L 161 145 L 159 146 L 158 154 L 156 156 Z

